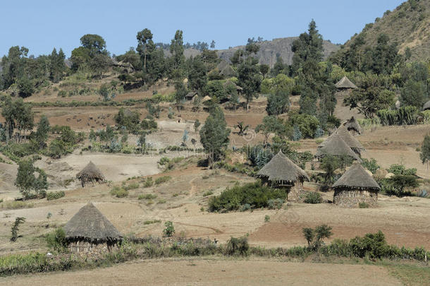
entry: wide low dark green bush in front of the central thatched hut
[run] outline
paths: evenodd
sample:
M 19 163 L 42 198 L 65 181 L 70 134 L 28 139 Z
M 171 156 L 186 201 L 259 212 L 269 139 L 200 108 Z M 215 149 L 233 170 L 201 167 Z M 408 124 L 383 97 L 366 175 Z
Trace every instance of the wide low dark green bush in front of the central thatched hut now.
M 285 200 L 286 192 L 263 186 L 260 181 L 257 181 L 243 186 L 235 185 L 231 189 L 227 188 L 221 195 L 211 197 L 208 210 L 210 212 L 240 210 L 245 204 L 250 205 L 250 208 L 267 208 L 269 200 L 276 198 Z

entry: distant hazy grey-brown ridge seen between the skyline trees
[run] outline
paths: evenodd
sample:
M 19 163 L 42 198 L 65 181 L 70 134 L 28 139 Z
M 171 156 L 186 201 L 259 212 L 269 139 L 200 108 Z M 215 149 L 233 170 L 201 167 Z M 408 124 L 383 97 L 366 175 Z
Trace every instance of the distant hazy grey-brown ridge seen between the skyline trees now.
M 295 40 L 297 40 L 297 37 L 281 37 L 271 41 L 257 43 L 260 46 L 260 50 L 257 53 L 259 64 L 268 64 L 272 68 L 276 63 L 276 57 L 278 55 L 282 57 L 285 64 L 293 64 L 294 53 L 291 50 L 291 47 Z M 332 52 L 336 52 L 339 49 L 339 46 L 328 41 L 324 41 L 323 47 L 324 57 L 329 56 Z M 221 59 L 230 61 L 231 56 L 233 56 L 235 51 L 238 49 L 245 49 L 245 46 L 231 47 L 230 49 L 219 49 L 218 56 Z M 167 50 L 164 51 L 164 54 L 167 56 L 170 55 Z M 188 58 L 190 56 L 200 54 L 200 51 L 197 49 L 185 49 L 184 54 Z

